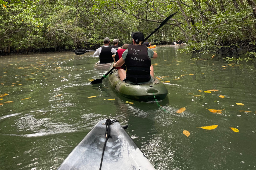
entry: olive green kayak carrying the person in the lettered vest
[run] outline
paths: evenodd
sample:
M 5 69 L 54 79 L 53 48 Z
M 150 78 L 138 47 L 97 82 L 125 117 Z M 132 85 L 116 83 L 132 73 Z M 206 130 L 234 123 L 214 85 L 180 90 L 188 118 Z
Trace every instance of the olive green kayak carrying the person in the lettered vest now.
M 113 68 L 113 65 L 109 67 L 108 70 Z M 108 75 L 108 82 L 110 86 L 120 95 L 136 101 L 157 101 L 165 99 L 168 94 L 168 90 L 165 85 L 154 77 L 154 81 L 150 83 L 145 83 L 141 85 L 133 85 L 121 81 L 118 72 L 114 69 Z

